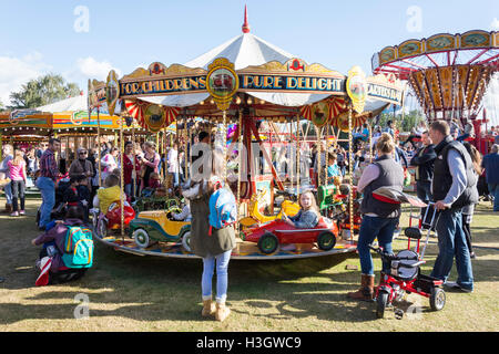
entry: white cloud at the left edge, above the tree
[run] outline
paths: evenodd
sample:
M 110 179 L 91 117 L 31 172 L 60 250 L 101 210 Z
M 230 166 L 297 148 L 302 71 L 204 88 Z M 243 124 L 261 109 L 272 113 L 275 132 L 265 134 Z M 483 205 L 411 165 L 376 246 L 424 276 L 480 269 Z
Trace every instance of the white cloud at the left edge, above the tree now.
M 22 84 L 45 74 L 52 66 L 43 62 L 43 55 L 31 52 L 22 58 L 0 56 L 0 101 L 10 104 L 10 93 L 19 91 Z

